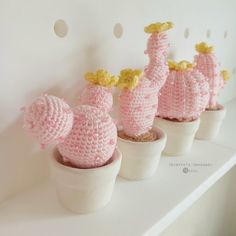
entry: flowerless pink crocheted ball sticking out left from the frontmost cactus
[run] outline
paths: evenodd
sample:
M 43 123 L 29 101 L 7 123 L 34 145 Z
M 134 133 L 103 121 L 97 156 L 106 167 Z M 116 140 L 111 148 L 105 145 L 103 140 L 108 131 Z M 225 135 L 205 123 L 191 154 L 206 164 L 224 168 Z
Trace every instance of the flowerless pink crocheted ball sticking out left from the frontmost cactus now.
M 42 147 L 63 141 L 72 125 L 73 112 L 57 97 L 43 95 L 24 108 L 24 127 Z

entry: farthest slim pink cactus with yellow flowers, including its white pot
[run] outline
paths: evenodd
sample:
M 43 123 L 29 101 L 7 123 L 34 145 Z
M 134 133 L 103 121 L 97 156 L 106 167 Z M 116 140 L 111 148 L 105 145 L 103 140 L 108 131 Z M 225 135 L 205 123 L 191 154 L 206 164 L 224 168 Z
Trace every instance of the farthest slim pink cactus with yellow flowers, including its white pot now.
M 196 45 L 198 55 L 194 57 L 196 68 L 206 77 L 209 83 L 210 98 L 206 110 L 201 114 L 201 122 L 196 133 L 197 139 L 213 139 L 217 136 L 226 108 L 217 103 L 219 91 L 229 79 L 226 70 L 220 72 L 220 66 L 213 47 L 201 42 Z

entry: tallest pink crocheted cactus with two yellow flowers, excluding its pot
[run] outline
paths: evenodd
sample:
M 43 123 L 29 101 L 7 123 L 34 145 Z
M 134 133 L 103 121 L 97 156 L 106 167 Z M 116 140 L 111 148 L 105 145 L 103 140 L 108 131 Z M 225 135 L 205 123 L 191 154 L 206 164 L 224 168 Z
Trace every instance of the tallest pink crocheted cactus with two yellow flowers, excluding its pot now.
M 169 68 L 166 62 L 169 43 L 164 31 L 171 22 L 155 23 L 145 27 L 151 36 L 145 51 L 149 64 L 144 75 L 139 70 L 122 70 L 117 86 L 120 95 L 120 122 L 126 135 L 138 137 L 152 129 L 158 104 L 158 92 L 163 86 Z

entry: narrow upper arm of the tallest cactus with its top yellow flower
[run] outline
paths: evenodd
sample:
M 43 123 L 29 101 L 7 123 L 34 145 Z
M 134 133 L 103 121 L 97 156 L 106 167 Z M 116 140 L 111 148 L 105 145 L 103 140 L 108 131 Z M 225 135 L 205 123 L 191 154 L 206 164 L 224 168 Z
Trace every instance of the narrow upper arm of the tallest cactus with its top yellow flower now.
M 167 52 L 169 49 L 166 30 L 173 27 L 171 22 L 155 23 L 145 27 L 144 31 L 151 34 L 145 51 L 149 57 L 149 63 L 145 68 L 145 77 L 156 84 L 160 89 L 169 73 L 167 65 Z

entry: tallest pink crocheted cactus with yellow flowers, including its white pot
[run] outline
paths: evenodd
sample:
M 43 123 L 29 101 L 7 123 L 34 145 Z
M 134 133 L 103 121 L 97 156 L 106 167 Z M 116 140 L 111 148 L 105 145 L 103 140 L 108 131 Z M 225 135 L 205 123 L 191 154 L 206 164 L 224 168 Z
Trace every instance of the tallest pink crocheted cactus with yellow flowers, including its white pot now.
M 168 75 L 166 55 L 168 41 L 165 31 L 172 23 L 156 23 L 145 28 L 150 33 L 146 54 L 149 64 L 144 73 L 125 69 L 119 76 L 119 118 L 122 129 L 118 131 L 118 147 L 123 153 L 119 175 L 139 180 L 152 176 L 158 166 L 166 143 L 165 133 L 153 127 L 158 103 L 158 91 Z

